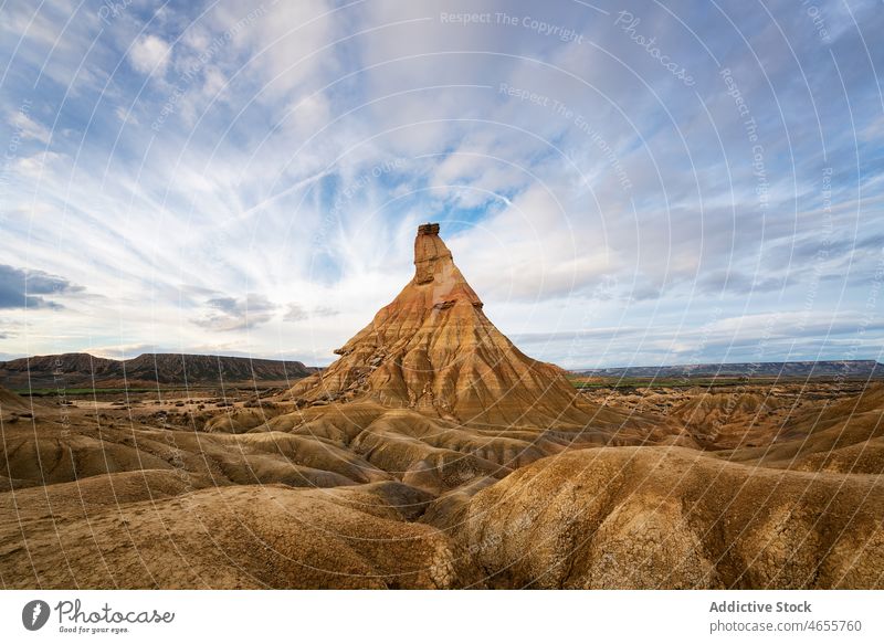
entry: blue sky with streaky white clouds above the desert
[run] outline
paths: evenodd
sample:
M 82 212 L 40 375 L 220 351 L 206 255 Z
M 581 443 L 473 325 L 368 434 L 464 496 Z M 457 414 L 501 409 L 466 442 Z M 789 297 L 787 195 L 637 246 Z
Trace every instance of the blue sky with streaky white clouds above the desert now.
M 6 1 L 0 359 L 327 365 L 440 222 L 567 368 L 882 359 L 884 3 Z

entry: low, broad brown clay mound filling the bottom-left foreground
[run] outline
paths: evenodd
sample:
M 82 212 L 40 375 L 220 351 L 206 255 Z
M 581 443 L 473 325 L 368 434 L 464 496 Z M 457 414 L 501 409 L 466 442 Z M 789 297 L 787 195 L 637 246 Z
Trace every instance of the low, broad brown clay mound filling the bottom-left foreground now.
M 15 499 L 0 495 L 0 511 L 10 513 L 14 500 L 23 505 L 29 530 L 25 550 L 14 546 L 21 538 L 18 525 L 0 527 L 6 588 L 439 589 L 463 583 L 463 562 L 454 559 L 448 539 L 430 526 L 407 522 L 396 509 L 394 488 L 190 490 L 172 473 L 145 471 L 48 489 L 18 492 Z M 55 521 L 62 517 L 59 530 Z

